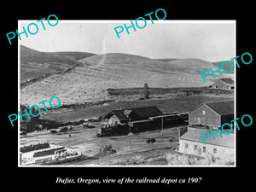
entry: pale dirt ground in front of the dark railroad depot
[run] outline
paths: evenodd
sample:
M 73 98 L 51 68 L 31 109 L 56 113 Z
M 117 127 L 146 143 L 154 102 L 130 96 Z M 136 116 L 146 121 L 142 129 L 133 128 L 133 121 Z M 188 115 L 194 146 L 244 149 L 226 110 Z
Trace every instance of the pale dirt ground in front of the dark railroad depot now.
M 96 137 L 98 128 L 84 129 L 81 125 L 74 126 L 71 137 L 67 133 L 51 134 L 49 131 L 38 131 L 20 137 L 20 146 L 41 141 L 55 143 L 69 148 L 76 148 L 87 157 L 83 161 L 75 162 L 73 166 L 85 165 L 136 165 L 157 163 L 163 160 L 166 150 L 177 148 L 177 127 L 160 131 L 141 132 L 131 136 Z M 154 137 L 155 143 L 146 143 L 148 138 Z M 93 158 L 106 146 L 112 146 L 116 153 L 103 154 Z M 89 159 L 88 159 L 89 158 Z M 132 162 L 130 162 L 132 161 Z M 165 160 L 164 160 L 165 161 Z M 151 162 L 151 163 L 150 163 Z

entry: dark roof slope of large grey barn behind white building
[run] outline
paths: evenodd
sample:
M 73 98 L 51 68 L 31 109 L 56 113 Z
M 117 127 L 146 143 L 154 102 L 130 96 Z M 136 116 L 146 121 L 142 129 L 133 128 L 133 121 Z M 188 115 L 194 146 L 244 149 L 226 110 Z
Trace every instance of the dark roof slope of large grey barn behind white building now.
M 234 114 L 234 100 L 222 102 L 206 102 L 204 103 L 213 111 L 220 115 Z

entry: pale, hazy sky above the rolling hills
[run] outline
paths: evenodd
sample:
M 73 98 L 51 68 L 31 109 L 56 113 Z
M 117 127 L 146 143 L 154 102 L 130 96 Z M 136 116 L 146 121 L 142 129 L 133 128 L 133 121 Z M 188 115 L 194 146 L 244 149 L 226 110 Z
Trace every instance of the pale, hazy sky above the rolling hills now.
M 126 53 L 149 58 L 198 58 L 227 61 L 235 57 L 236 22 L 234 20 L 146 20 L 147 25 L 130 34 L 125 26 L 131 20 L 59 20 L 56 26 L 44 21 L 45 30 L 36 20 L 19 20 L 20 27 L 38 25 L 38 33 L 21 35 L 20 44 L 38 51 L 82 51 L 94 54 Z M 53 20 L 50 21 L 55 23 Z M 144 25 L 143 20 L 138 21 Z M 123 26 L 118 38 L 114 28 Z M 120 28 L 119 28 L 120 29 Z M 118 30 L 119 30 L 118 29 Z M 29 30 L 36 32 L 34 25 Z

